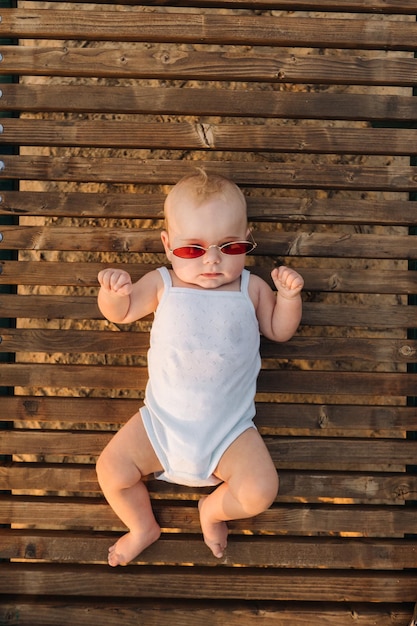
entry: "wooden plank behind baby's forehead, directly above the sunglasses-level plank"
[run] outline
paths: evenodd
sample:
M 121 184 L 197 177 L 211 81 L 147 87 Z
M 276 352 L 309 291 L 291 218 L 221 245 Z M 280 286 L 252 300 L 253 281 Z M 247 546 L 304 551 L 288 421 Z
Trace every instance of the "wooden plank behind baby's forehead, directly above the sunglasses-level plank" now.
M 260 185 L 262 181 L 260 181 Z M 245 187 L 245 183 L 241 183 Z M 165 195 L 160 193 L 83 193 L 2 191 L 0 215 L 12 217 L 65 216 L 100 218 L 163 219 Z M 302 224 L 417 225 L 415 203 L 411 201 L 359 198 L 246 198 L 251 222 L 295 222 Z

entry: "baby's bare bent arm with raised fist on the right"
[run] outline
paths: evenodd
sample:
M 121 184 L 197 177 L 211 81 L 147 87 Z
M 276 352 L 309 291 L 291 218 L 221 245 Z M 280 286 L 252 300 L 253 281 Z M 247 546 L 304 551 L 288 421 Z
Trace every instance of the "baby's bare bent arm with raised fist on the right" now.
M 281 265 L 271 272 L 277 294 L 265 281 L 254 279 L 254 303 L 261 333 L 273 341 L 288 341 L 296 332 L 302 313 L 304 280 L 295 270 Z

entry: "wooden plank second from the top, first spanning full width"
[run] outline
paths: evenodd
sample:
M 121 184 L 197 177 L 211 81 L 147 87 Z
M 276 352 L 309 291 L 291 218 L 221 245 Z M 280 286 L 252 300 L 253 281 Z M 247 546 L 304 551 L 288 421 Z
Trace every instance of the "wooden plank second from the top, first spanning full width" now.
M 91 14 L 94 17 L 91 17 Z M 210 43 L 416 50 L 412 21 L 225 13 L 2 9 L 2 34 L 20 39 Z

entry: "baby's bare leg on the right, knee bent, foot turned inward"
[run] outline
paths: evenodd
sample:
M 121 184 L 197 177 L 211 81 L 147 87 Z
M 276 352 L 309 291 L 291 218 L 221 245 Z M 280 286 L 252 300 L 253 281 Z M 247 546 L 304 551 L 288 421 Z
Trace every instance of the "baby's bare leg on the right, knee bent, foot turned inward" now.
M 199 502 L 199 510 L 204 541 L 221 558 L 227 545 L 226 522 L 266 511 L 277 495 L 278 474 L 254 428 L 229 446 L 215 474 L 224 482 Z

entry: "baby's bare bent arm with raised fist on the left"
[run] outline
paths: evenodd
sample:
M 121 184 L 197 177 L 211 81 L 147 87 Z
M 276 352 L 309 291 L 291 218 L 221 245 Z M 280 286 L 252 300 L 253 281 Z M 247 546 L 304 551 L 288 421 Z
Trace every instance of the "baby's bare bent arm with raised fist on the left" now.
M 111 322 L 128 324 L 155 311 L 163 283 L 159 272 L 145 274 L 132 283 L 130 274 L 121 269 L 99 272 L 98 306 Z

